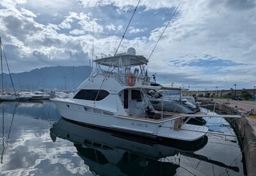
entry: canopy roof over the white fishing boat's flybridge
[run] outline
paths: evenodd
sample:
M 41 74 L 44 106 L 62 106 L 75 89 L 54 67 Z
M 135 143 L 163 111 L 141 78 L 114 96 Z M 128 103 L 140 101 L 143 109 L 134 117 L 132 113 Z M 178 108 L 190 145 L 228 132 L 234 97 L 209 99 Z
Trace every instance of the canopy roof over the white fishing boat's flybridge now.
M 128 49 L 129 50 L 129 49 Z M 101 64 L 103 66 L 140 66 L 143 64 L 147 64 L 148 59 L 143 55 L 135 55 L 133 53 L 124 53 L 124 54 L 116 54 L 111 57 L 104 57 L 101 59 L 96 59 L 94 62 Z

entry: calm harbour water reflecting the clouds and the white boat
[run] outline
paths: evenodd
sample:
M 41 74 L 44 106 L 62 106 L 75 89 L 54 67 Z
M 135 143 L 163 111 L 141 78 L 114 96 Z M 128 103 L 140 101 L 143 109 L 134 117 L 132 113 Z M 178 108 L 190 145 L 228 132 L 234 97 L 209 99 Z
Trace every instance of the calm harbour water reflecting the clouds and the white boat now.
M 64 121 L 51 101 L 1 102 L 0 175 L 244 175 L 232 128 L 205 121 L 202 140 L 150 143 Z

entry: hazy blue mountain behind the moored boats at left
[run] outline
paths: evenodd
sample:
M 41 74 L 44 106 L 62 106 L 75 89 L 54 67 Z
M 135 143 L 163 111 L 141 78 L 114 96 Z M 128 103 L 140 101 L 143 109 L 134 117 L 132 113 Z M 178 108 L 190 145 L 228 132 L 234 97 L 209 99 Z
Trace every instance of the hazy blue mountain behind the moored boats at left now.
M 49 91 L 59 89 L 72 91 L 76 89 L 86 78 L 90 76 L 90 66 L 52 66 L 35 69 L 22 73 L 11 73 L 16 91 L 30 91 L 44 89 Z M 0 73 L 1 75 L 1 73 Z M 10 75 L 4 73 L 4 90 L 12 91 Z M 2 80 L 0 77 L 0 86 Z M 0 88 L 1 88 L 0 87 Z

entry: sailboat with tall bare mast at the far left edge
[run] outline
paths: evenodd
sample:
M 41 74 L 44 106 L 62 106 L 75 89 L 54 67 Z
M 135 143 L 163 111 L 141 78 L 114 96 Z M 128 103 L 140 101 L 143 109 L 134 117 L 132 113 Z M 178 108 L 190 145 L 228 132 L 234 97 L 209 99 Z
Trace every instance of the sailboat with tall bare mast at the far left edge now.
M 0 101 L 15 101 L 16 99 L 16 93 L 14 94 L 10 94 L 10 93 L 4 93 L 4 76 L 3 76 L 3 54 L 2 54 L 2 41 L 1 41 L 1 37 L 0 37 L 0 54 L 1 54 L 1 75 L 2 75 L 2 93 L 0 94 Z M 7 63 L 7 61 L 6 61 Z M 8 66 L 8 64 L 7 64 Z M 9 68 L 8 68 L 9 70 Z M 10 70 L 9 70 L 9 75 L 10 75 Z M 12 80 L 12 77 L 10 75 L 10 78 Z M 13 82 L 12 82 L 13 84 Z M 14 86 L 13 86 L 13 90 L 15 92 Z

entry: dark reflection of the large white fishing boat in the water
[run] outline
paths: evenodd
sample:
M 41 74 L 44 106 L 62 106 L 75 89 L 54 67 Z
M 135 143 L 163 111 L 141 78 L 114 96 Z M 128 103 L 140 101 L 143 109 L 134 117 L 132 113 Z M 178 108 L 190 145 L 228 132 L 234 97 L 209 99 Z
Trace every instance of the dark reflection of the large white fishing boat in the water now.
M 54 142 L 56 137 L 74 142 L 84 164 L 98 175 L 174 175 L 179 165 L 164 158 L 179 152 L 192 154 L 202 149 L 208 140 L 204 136 L 194 142 L 148 142 L 143 138 L 100 131 L 65 119 L 60 119 L 50 131 Z

